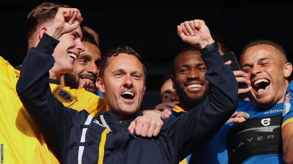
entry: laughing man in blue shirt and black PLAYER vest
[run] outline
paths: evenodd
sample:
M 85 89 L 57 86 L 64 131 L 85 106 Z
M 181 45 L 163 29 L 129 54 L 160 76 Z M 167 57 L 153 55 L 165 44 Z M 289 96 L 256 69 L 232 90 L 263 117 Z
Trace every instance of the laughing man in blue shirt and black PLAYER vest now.
M 283 97 L 292 65 L 280 45 L 266 40 L 248 43 L 240 65 L 251 81 L 253 111 L 246 121 L 227 123 L 220 130 L 219 163 L 284 163 Z

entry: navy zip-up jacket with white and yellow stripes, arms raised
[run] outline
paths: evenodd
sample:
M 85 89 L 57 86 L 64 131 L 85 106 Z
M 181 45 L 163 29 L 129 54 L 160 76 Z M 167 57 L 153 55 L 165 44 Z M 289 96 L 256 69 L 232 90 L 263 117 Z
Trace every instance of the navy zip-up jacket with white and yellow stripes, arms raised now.
M 86 110 L 64 107 L 55 98 L 48 71 L 58 43 L 44 34 L 38 46 L 30 48 L 16 90 L 61 163 L 179 163 L 213 137 L 237 108 L 237 81 L 215 49 L 202 55 L 210 82 L 207 99 L 184 116 L 163 119 L 157 137 L 136 137 L 127 128 L 141 112 L 124 120 L 112 111 L 92 117 Z

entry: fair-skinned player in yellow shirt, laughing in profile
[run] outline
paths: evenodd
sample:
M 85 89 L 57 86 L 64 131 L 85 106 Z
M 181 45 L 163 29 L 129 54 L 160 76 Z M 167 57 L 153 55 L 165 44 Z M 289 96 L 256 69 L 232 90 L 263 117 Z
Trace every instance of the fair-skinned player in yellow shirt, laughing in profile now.
M 47 27 L 50 27 L 50 18 L 53 20 L 59 7 L 69 6 L 43 3 L 30 12 L 26 28 L 29 48 L 38 45 L 39 32 L 46 31 Z M 76 55 L 84 51 L 81 37 L 79 27 L 59 39 L 60 43 L 53 55 L 56 63 L 50 70 L 50 87 L 52 93 L 64 106 L 79 111 L 86 109 L 94 116 L 105 111 L 102 98 L 85 91 L 84 88 L 62 88 L 57 80 L 59 74 L 72 71 L 74 62 L 72 58 L 74 56 L 76 58 Z M 8 61 L 0 57 L 0 143 L 3 144 L 3 162 L 7 164 L 59 163 L 18 98 L 16 82 L 19 74 L 19 66 L 13 68 Z

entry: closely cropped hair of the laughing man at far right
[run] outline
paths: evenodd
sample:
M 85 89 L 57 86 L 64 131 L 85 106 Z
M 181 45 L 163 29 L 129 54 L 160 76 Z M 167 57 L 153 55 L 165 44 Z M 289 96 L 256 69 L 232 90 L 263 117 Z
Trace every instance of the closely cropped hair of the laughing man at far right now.
M 282 64 L 285 64 L 288 62 L 287 60 L 287 56 L 286 56 L 286 53 L 285 53 L 285 50 L 282 48 L 282 46 L 280 46 L 279 44 L 275 43 L 275 42 L 272 42 L 272 41 L 268 41 L 268 40 L 257 40 L 257 41 L 252 41 L 248 44 L 246 44 L 246 46 L 244 46 L 242 52 L 241 52 L 241 55 L 240 55 L 240 60 L 241 60 L 241 57 L 243 55 L 243 53 L 250 47 L 253 47 L 253 46 L 259 46 L 259 45 L 268 45 L 268 46 L 273 46 L 276 50 L 277 50 L 277 53 L 278 55 L 280 56 L 279 59 L 280 59 L 280 62 Z

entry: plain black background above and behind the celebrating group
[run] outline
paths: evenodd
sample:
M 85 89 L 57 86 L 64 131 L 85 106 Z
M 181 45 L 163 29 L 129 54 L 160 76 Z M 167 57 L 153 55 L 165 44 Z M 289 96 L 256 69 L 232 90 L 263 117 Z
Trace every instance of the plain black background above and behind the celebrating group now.
M 158 103 L 162 77 L 171 73 L 173 57 L 188 45 L 176 26 L 202 19 L 210 30 L 231 43 L 239 56 L 243 46 L 257 39 L 274 41 L 292 61 L 292 11 L 289 1 L 50 1 L 78 8 L 86 25 L 98 32 L 102 54 L 127 45 L 147 61 L 147 93 L 142 109 Z M 1 56 L 13 66 L 27 53 L 24 25 L 30 10 L 42 1 L 0 1 Z M 151 102 L 151 103 L 149 103 Z

